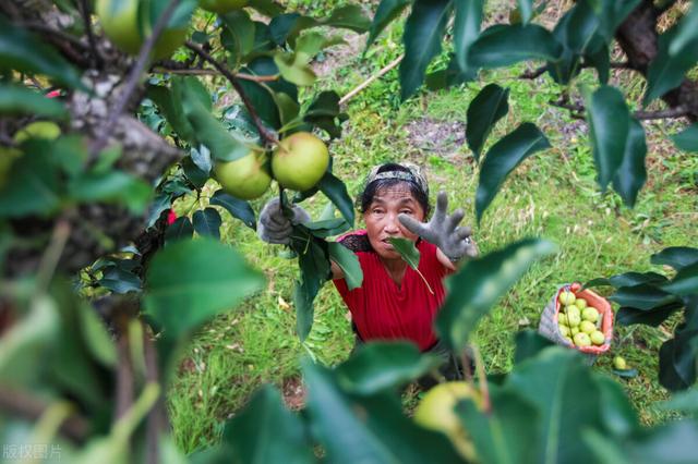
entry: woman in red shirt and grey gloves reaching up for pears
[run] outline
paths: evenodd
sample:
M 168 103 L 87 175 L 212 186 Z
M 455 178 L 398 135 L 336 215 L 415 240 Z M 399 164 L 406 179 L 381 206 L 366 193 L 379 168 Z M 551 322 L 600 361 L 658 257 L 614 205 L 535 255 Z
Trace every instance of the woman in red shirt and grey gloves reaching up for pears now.
M 461 258 L 478 255 L 471 229 L 458 227 L 462 210 L 448 216 L 448 200 L 441 192 L 434 216 L 424 223 L 430 211 L 429 186 L 419 168 L 409 163 L 374 168 L 357 207 L 365 229 L 345 234 L 338 242 L 357 254 L 363 270 L 361 288 L 350 291 L 341 269 L 332 262 L 333 282 L 351 312 L 357 342 L 409 340 L 422 352 L 446 355 L 433 331 L 445 297 L 443 280 Z M 289 221 L 279 210 L 278 199 L 269 202 L 260 215 L 260 237 L 288 243 L 291 221 L 310 220 L 302 208 L 293 208 L 294 217 Z M 393 247 L 392 237 L 416 242 L 419 272 Z

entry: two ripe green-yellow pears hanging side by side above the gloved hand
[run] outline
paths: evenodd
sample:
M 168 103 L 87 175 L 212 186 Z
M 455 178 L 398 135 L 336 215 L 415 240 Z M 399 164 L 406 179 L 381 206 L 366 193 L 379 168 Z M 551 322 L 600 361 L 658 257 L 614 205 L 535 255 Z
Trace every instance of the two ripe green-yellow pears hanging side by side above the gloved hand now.
M 264 150 L 250 148 L 248 155 L 234 161 L 218 161 L 214 174 L 225 192 L 242 199 L 262 196 L 273 178 L 284 188 L 304 192 L 325 174 L 329 151 L 310 132 L 297 132 L 282 138 L 272 152 L 272 162 L 267 161 Z

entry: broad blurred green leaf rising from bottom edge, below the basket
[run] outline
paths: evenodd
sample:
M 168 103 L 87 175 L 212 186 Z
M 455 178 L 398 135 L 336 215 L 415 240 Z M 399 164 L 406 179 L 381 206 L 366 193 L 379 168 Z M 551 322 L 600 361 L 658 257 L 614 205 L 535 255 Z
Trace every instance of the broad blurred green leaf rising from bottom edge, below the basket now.
M 543 350 L 518 365 L 504 387 L 539 412 L 541 429 L 531 447 L 540 454 L 531 462 L 594 462 L 592 450 L 582 440 L 571 439 L 587 428 L 602 429 L 601 393 L 577 352 Z

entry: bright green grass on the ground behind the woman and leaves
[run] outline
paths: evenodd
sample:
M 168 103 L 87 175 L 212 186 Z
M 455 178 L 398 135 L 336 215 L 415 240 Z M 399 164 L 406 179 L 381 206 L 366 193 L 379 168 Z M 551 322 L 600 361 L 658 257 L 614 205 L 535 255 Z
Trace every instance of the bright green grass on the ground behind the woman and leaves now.
M 304 4 L 311 10 L 320 8 L 312 2 Z M 350 57 L 313 91 L 334 88 L 342 95 L 393 60 L 400 52 L 396 46 L 400 27 L 398 24 L 378 39 L 375 47 L 380 52 L 364 60 Z M 335 173 L 352 195 L 376 163 L 411 160 L 422 164 L 432 185 L 432 197 L 440 188 L 446 190 L 452 207 L 466 209 L 465 222 L 476 225 L 483 254 L 526 236 L 542 236 L 558 245 L 559 253 L 535 264 L 480 323 L 476 343 L 489 373 L 512 368 L 513 335 L 521 328 L 538 326 L 557 285 L 627 270 L 664 271 L 650 266 L 651 254 L 666 246 L 696 242 L 698 161 L 678 152 L 665 138 L 667 133 L 676 132 L 675 124 L 646 124 L 650 146 L 648 186 L 641 191 L 635 209 L 627 209 L 616 194 L 599 192 L 585 124 L 547 105 L 559 89 L 546 77 L 534 82 L 516 78 L 521 70 L 489 72 L 478 83 L 420 94 L 402 105 L 398 105 L 394 70 L 351 100 L 344 136 L 330 149 Z M 616 78 L 628 88 L 637 87 L 637 82 L 627 76 Z M 419 127 L 424 120 L 465 122 L 469 101 L 490 82 L 510 88 L 510 111 L 490 136 L 485 150 L 524 121 L 538 124 L 553 148 L 518 167 L 482 222 L 476 224 L 478 167 L 467 146 L 448 152 L 424 152 L 414 146 L 413 136 L 405 127 L 409 123 Z M 253 204 L 256 211 L 266 199 Z M 185 212 L 193 202 L 185 199 L 178 209 Z M 303 206 L 317 217 L 325 204 L 326 199 L 316 195 Z M 265 291 L 202 330 L 182 364 L 169 393 L 169 411 L 177 443 L 185 452 L 215 442 L 220 424 L 261 383 L 273 382 L 284 390 L 299 376 L 302 356 L 333 365 L 345 359 L 353 345 L 346 308 L 332 284 L 325 285 L 315 301 L 315 323 L 301 344 L 294 334 L 291 304 L 292 283 L 298 278 L 296 261 L 284 256 L 282 247 L 263 244 L 251 230 L 226 212 L 222 216 L 222 240 L 262 269 L 268 284 Z M 671 338 L 677 321 L 674 318 L 658 329 L 616 327 L 611 354 L 623 355 L 639 371 L 636 378 L 618 381 L 648 425 L 669 417 L 652 405 L 669 398 L 657 381 L 658 351 Z M 600 356 L 594 368 L 610 371 L 611 358 Z M 405 404 L 411 407 L 416 398 L 417 393 L 410 391 Z

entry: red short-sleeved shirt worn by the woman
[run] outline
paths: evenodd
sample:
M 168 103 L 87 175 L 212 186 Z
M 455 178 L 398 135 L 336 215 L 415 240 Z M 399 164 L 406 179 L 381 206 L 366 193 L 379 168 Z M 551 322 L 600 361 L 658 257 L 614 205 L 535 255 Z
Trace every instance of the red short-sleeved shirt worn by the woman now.
M 352 234 L 365 233 L 360 230 Z M 363 341 L 407 339 L 421 351 L 436 343 L 433 322 L 445 297 L 443 280 L 450 270 L 438 261 L 436 246 L 421 240 L 417 249 L 420 252 L 418 268 L 433 294 L 409 266 L 398 286 L 375 252 L 356 252 L 363 271 L 361 288 L 349 291 L 345 279 L 333 281 Z

